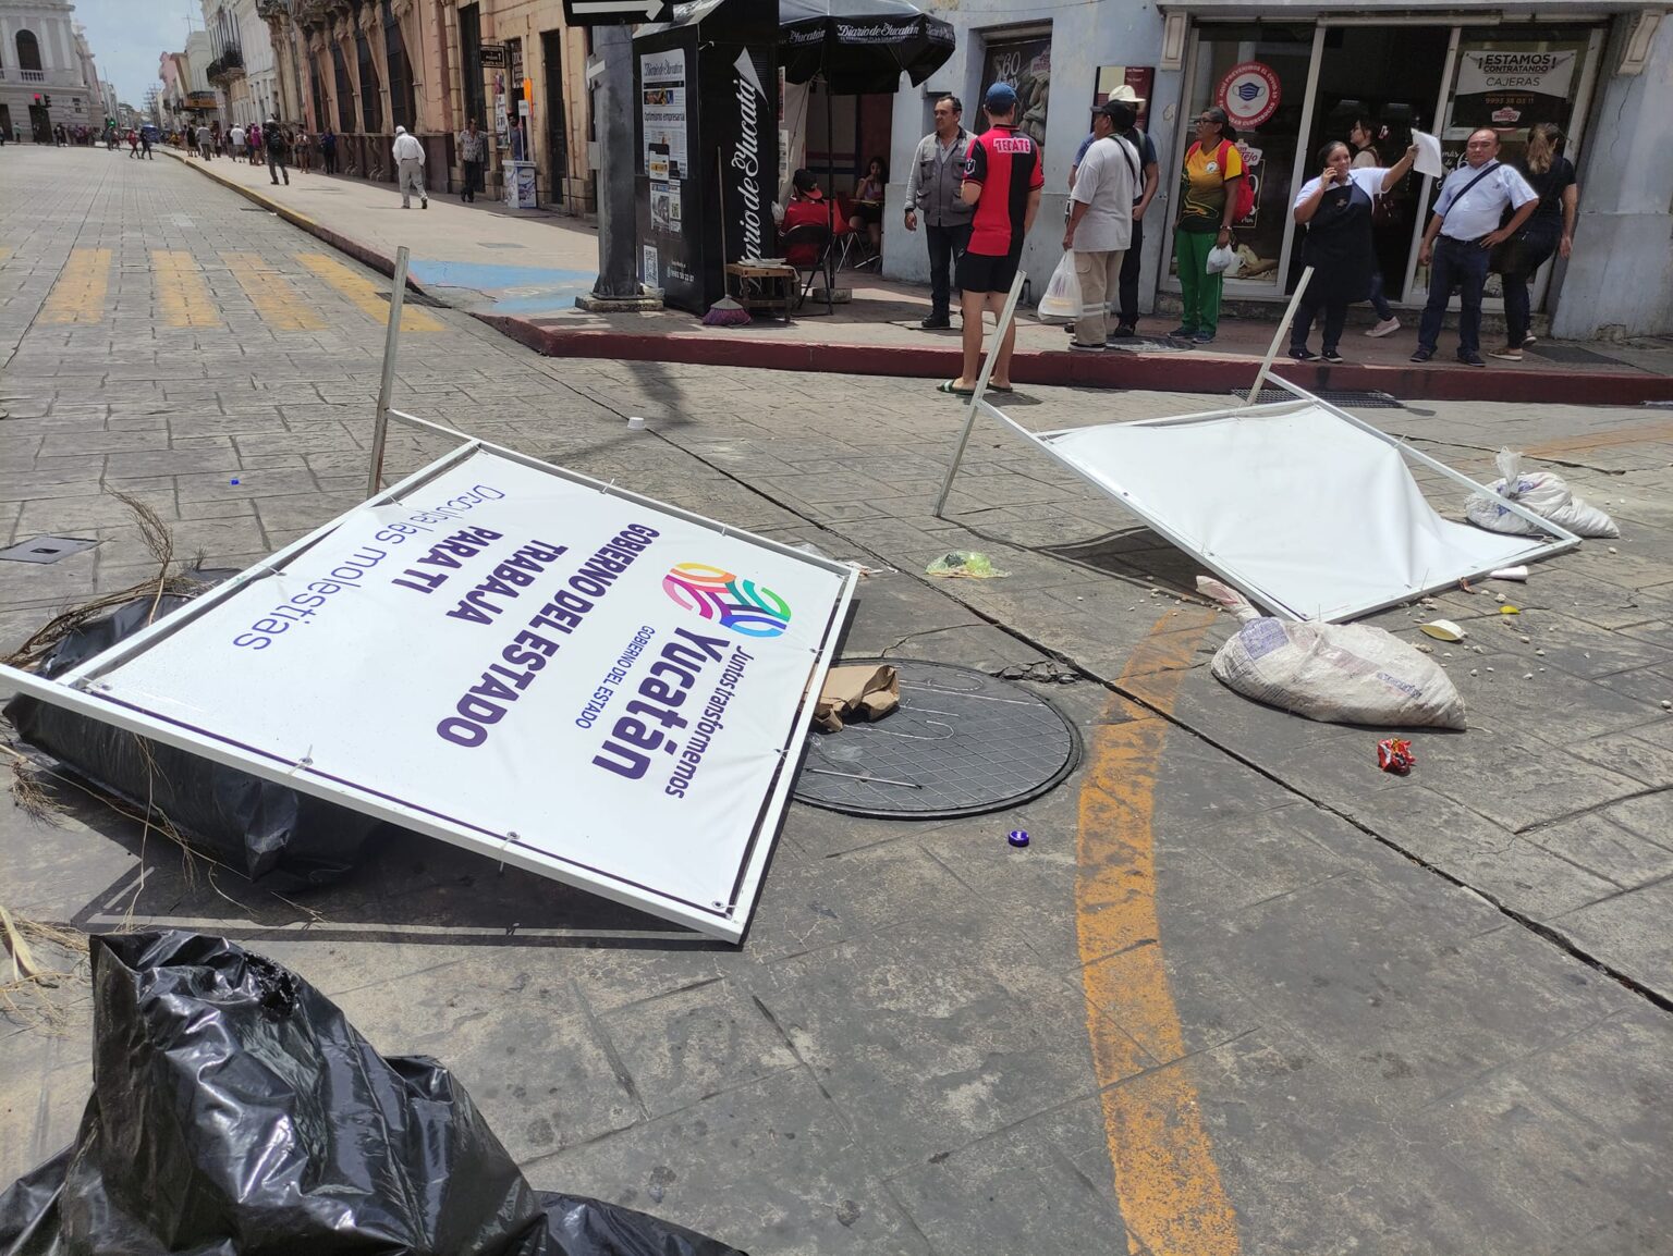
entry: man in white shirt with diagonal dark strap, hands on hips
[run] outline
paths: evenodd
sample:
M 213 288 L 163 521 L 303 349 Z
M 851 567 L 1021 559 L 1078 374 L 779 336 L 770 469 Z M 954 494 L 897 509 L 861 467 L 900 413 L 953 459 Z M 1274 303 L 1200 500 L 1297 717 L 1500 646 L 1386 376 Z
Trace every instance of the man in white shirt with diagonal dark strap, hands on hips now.
M 1429 303 L 1417 326 L 1412 361 L 1429 361 L 1440 341 L 1440 319 L 1454 289 L 1459 293 L 1459 361 L 1486 366 L 1481 356 L 1481 293 L 1487 284 L 1487 254 L 1509 239 L 1539 207 L 1539 194 L 1517 171 L 1499 161 L 1497 132 L 1482 127 L 1464 144 L 1464 164 L 1440 184 L 1424 243 L 1420 266 L 1429 266 Z M 1504 211 L 1512 209 L 1501 226 Z

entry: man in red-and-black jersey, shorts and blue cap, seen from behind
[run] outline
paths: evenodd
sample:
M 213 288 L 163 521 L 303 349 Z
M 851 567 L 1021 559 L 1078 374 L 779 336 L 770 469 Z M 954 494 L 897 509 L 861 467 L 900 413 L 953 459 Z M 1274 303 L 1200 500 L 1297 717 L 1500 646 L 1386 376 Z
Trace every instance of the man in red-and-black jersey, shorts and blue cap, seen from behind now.
M 982 360 L 982 309 L 997 318 L 1005 308 L 1010 283 L 1017 278 L 1022 261 L 1022 241 L 1034 226 L 1041 207 L 1041 189 L 1046 174 L 1041 169 L 1041 151 L 1029 135 L 1017 130 L 1017 89 L 997 82 L 982 99 L 989 129 L 970 140 L 964 159 L 964 182 L 959 196 L 974 206 L 970 216 L 970 246 L 959 259 L 959 303 L 964 316 L 964 371 L 957 380 L 947 380 L 940 391 L 969 396 L 975 391 L 975 376 Z M 1017 326 L 1012 323 L 994 346 L 994 370 L 989 383 L 994 391 L 1010 391 L 1010 351 L 1017 343 Z

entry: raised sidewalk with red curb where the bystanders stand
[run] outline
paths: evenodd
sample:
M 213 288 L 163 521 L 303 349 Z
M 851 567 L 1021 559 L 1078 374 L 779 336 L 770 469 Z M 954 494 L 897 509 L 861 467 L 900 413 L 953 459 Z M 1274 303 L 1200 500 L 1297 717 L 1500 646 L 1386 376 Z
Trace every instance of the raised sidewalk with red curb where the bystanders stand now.
M 179 161 L 182 154 L 164 149 Z M 867 273 L 843 273 L 838 288 L 852 299 L 826 314 L 813 301 L 790 326 L 758 319 L 741 328 L 706 328 L 684 311 L 592 314 L 576 296 L 597 274 L 597 234 L 559 214 L 507 211 L 497 201 L 462 204 L 437 194 L 430 207 L 403 211 L 393 186 L 291 172 L 274 189 L 264 166 L 217 157 L 189 161 L 201 174 L 328 244 L 383 271 L 395 251 L 412 251 L 413 286 L 480 318 L 504 334 L 552 358 L 614 358 L 790 371 L 843 371 L 945 380 L 959 373 L 959 331 L 923 331 L 929 296 L 915 284 Z M 1022 314 L 1012 375 L 1019 383 L 1101 388 L 1230 391 L 1246 388 L 1271 340 L 1266 321 L 1226 319 L 1210 351 L 1186 350 L 1161 336 L 1168 316 L 1146 319 L 1148 338 L 1103 355 L 1067 351 L 1057 326 Z M 1640 405 L 1673 400 L 1673 341 L 1571 345 L 1543 341 L 1522 363 L 1487 370 L 1450 360 L 1450 333 L 1434 363 L 1407 361 L 1415 311 L 1384 340 L 1369 340 L 1350 323 L 1343 366 L 1282 360 L 1285 378 L 1315 390 L 1370 390 L 1400 398 L 1481 401 L 1571 401 Z

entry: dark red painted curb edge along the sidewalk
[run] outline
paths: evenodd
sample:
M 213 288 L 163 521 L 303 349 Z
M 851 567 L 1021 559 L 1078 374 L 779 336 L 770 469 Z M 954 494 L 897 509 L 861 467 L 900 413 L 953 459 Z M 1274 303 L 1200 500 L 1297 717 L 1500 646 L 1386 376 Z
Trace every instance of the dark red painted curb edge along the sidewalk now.
M 209 166 L 164 149 L 176 161 L 229 187 L 246 201 L 269 209 L 340 253 L 371 269 L 393 276 L 395 261 L 365 244 L 316 222 L 253 187 L 223 179 Z M 231 161 L 231 159 L 228 159 Z M 423 284 L 407 276 L 407 286 L 423 296 Z M 440 298 L 432 296 L 440 304 Z M 452 308 L 452 306 L 450 306 Z M 811 345 L 785 340 L 739 340 L 731 334 L 574 329 L 555 331 L 525 318 L 463 311 L 504 336 L 547 358 L 616 358 L 619 361 L 668 361 L 684 366 L 746 366 L 771 371 L 813 371 L 835 375 L 890 375 L 915 380 L 947 380 L 962 368 L 957 348 L 898 348 L 880 345 Z M 1010 376 L 1017 383 L 1071 388 L 1134 388 L 1154 391 L 1231 393 L 1246 390 L 1255 378 L 1248 358 L 1216 358 L 1195 353 L 1106 353 L 1062 351 L 1017 353 Z M 1636 406 L 1673 401 L 1673 378 L 1661 375 L 1573 373 L 1561 370 L 1457 370 L 1450 366 L 1328 366 L 1283 360 L 1285 380 L 1312 391 L 1380 391 L 1412 401 L 1537 401 L 1553 405 Z

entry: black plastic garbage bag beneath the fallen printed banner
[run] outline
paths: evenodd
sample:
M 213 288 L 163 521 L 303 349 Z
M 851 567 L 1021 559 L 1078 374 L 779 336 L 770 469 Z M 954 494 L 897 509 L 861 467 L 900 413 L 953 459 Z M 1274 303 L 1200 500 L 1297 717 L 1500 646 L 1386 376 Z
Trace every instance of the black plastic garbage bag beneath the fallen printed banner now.
M 194 572 L 207 584 L 233 574 Z M 62 676 L 186 600 L 164 597 L 156 615 L 151 597 L 125 602 L 70 632 L 40 671 Z M 355 866 L 361 845 L 381 823 L 27 694 L 7 702 L 5 717 L 30 746 L 141 809 L 149 801 L 194 846 L 273 890 L 336 880 Z

